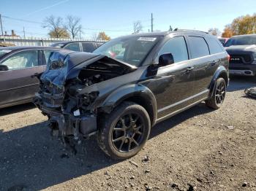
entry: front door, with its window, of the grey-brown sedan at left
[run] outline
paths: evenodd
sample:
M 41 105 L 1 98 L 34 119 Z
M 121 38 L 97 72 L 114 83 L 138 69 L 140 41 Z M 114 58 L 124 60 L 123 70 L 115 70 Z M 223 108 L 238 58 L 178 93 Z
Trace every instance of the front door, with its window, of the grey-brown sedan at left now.
M 15 105 L 26 102 L 34 97 L 39 87 L 35 73 L 44 71 L 41 66 L 38 50 L 15 52 L 0 64 L 8 67 L 7 71 L 0 71 L 0 106 Z

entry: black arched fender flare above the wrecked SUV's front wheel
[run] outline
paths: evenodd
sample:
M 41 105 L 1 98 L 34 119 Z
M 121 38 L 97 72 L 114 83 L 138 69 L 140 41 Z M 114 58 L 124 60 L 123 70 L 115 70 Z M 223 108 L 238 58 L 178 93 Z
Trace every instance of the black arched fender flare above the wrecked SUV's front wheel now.
M 121 104 L 122 101 L 134 97 L 138 99 L 141 98 L 141 101 L 146 103 L 146 106 L 144 106 L 144 108 L 147 107 L 145 109 L 147 111 L 151 111 L 151 114 L 149 114 L 153 118 L 151 119 L 151 125 L 154 125 L 157 120 L 157 101 L 151 90 L 143 85 L 126 85 L 124 87 L 120 87 L 114 90 L 113 93 L 110 93 L 110 95 L 108 95 L 108 98 L 106 98 L 105 101 L 102 102 L 99 108 L 104 112 L 110 113 L 116 106 L 118 106 L 118 104 Z M 140 102 L 140 100 L 138 100 L 138 102 Z

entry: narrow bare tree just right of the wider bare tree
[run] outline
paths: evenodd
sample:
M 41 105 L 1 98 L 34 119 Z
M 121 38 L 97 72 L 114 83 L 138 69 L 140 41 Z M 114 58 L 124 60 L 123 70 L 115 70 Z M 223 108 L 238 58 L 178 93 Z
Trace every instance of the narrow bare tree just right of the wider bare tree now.
M 67 28 L 67 31 L 69 31 L 69 33 L 71 34 L 72 39 L 75 39 L 75 37 L 82 32 L 80 18 L 68 15 L 66 17 L 65 28 Z

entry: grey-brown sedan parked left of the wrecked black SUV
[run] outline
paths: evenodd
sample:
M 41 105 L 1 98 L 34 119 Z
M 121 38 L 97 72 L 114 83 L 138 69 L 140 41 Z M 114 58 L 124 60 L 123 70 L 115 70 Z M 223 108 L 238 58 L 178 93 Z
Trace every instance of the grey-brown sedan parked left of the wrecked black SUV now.
M 0 47 L 0 108 L 30 102 L 53 47 Z

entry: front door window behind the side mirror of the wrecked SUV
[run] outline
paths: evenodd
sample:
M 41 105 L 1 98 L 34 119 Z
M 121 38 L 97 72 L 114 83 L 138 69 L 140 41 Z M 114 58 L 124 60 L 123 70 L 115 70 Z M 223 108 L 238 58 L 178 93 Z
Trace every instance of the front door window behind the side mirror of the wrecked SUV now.
M 157 61 L 159 56 L 165 53 L 172 53 L 174 63 L 187 61 L 187 44 L 185 42 L 184 36 L 173 37 L 168 42 L 166 42 L 158 52 Z

